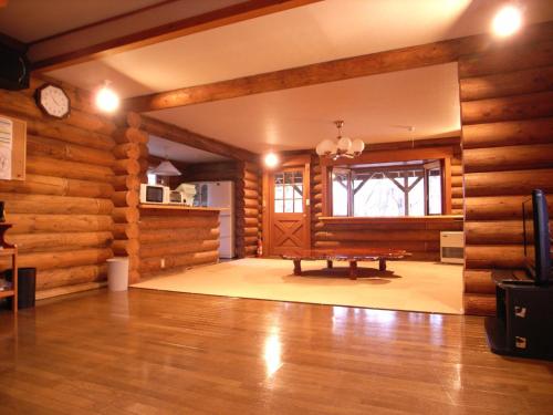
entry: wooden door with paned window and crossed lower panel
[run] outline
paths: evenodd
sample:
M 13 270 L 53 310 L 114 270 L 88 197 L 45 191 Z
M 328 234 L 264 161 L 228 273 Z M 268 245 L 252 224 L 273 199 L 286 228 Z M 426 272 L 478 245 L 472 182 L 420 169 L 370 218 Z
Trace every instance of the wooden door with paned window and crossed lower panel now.
M 268 187 L 269 255 L 289 255 L 310 248 L 309 165 L 269 174 Z

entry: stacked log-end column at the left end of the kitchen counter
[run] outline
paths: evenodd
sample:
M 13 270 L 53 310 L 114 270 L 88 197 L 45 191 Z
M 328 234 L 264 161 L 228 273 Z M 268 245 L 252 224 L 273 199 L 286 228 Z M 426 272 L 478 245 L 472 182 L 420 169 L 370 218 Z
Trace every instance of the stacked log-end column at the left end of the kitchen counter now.
M 146 183 L 148 168 L 148 135 L 140 131 L 142 118 L 129 113 L 125 123 L 113 136 L 116 145 L 114 155 L 114 241 L 113 251 L 117 257 L 128 257 L 129 283 L 140 279 L 140 245 L 138 241 L 140 218 L 139 190 L 140 183 Z

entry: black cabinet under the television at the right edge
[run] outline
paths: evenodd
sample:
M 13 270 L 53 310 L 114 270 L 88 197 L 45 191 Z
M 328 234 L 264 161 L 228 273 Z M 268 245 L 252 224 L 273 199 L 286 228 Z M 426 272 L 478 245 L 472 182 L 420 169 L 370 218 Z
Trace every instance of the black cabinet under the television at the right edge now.
M 492 274 L 497 317 L 486 319 L 488 343 L 498 354 L 551 360 L 553 286 L 535 286 L 519 276 L 504 270 Z

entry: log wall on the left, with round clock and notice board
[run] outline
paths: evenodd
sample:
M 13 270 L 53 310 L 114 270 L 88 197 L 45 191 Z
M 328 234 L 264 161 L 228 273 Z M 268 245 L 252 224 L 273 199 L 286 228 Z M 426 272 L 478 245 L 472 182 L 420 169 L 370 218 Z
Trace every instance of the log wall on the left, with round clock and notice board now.
M 42 114 L 33 93 L 0 90 L 0 113 L 27 122 L 27 180 L 0 180 L 7 234 L 20 250 L 20 267 L 35 267 L 36 297 L 96 288 L 113 256 L 115 124 L 86 105 L 74 90 L 71 116 Z M 2 262 L 2 267 L 6 263 Z

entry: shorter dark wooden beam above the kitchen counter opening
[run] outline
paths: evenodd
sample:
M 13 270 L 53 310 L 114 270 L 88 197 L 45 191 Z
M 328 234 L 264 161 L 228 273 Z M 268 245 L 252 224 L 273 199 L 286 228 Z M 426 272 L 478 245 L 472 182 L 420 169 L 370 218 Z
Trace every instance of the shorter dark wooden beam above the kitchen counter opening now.
M 222 143 L 218 139 L 209 138 L 204 135 L 190 132 L 188 129 L 178 127 L 173 124 L 164 123 L 148 116 L 142 116 L 140 129 L 148 134 L 155 135 L 170 142 L 184 144 L 194 148 L 202 149 L 205 152 L 218 154 L 220 156 L 229 157 L 231 159 L 241 162 L 257 162 L 259 155 L 249 152 L 244 148 L 236 147 L 233 145 Z

